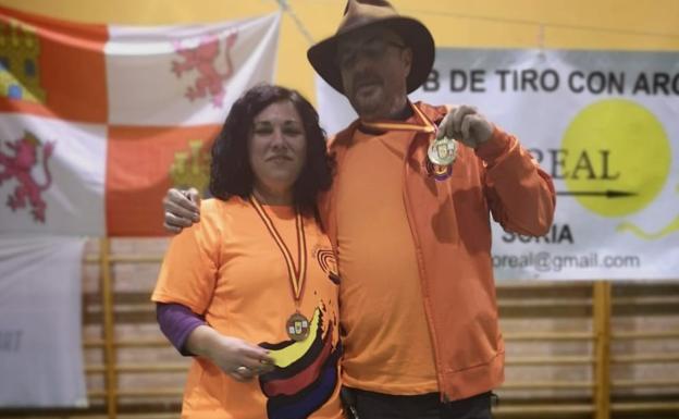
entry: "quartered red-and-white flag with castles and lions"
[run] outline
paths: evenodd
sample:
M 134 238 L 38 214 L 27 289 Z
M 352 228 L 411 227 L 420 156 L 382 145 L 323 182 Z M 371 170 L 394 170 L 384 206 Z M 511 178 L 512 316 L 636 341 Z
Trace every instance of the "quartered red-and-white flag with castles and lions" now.
M 0 8 L 0 233 L 163 234 L 230 106 L 273 79 L 280 14 L 180 26 Z

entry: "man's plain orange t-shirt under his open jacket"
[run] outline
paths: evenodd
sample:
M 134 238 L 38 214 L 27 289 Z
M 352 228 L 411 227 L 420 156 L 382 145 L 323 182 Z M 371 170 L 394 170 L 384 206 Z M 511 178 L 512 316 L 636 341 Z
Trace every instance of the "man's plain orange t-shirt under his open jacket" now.
M 335 178 L 344 384 L 403 395 L 439 390 L 404 205 L 412 135 L 357 131 Z

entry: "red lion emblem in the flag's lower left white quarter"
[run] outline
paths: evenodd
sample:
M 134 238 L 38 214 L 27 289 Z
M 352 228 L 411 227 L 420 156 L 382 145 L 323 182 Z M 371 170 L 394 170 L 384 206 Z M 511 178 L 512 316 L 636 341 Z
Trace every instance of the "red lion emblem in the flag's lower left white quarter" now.
M 47 190 L 52 183 L 52 176 L 47 161 L 52 156 L 53 143 L 46 143 L 42 146 L 42 170 L 45 171 L 45 184 L 40 185 L 33 178 L 30 173 L 38 163 L 38 147 L 40 141 L 35 135 L 26 132 L 23 138 L 14 141 L 4 141 L 14 151 L 14 156 L 9 156 L 0 151 L 0 186 L 4 181 L 16 178 L 18 186 L 14 193 L 8 197 L 7 205 L 16 211 L 17 208 L 26 207 L 26 198 L 33 207 L 30 211 L 35 221 L 45 222 L 45 211 L 47 204 L 42 200 L 41 194 Z

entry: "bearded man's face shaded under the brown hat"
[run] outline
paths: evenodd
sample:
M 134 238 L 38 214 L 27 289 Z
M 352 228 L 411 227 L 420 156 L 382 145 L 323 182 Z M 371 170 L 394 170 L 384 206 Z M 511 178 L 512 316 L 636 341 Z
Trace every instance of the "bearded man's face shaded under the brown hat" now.
M 412 51 L 396 34 L 366 28 L 347 35 L 337 45 L 336 60 L 344 95 L 359 116 L 384 119 L 402 110 Z

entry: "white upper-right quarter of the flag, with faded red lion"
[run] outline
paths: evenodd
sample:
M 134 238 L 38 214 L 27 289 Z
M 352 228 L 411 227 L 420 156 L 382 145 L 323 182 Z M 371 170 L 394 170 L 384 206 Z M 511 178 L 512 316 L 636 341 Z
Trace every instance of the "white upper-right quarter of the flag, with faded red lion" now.
M 195 26 L 110 26 L 109 122 L 221 124 L 243 91 L 273 78 L 281 15 Z

